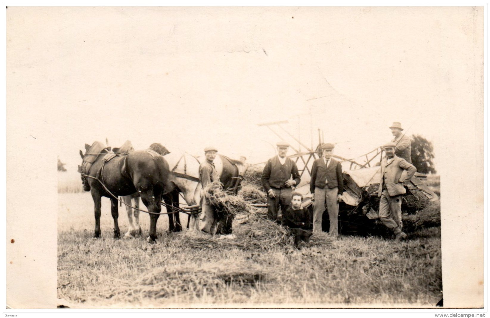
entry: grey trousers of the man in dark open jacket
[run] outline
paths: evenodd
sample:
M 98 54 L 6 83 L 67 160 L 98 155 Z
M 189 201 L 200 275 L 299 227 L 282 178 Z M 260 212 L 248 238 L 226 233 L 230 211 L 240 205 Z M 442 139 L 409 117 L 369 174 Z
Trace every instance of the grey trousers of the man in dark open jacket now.
M 339 194 L 339 188 L 325 188 L 321 189 L 315 187 L 315 201 L 313 203 L 313 234 L 321 233 L 321 219 L 323 217 L 323 211 L 325 211 L 325 201 L 327 204 L 328 218 L 330 219 L 331 235 L 339 235 L 339 203 L 337 202 L 337 195 Z

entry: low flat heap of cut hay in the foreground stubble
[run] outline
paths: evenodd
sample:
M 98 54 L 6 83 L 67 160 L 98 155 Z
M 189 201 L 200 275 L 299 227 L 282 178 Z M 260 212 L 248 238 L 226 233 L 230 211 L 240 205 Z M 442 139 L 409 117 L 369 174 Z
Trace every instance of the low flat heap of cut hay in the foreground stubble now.
M 141 278 L 131 282 L 121 282 L 112 289 L 109 298 L 125 298 L 131 295 L 141 297 L 168 298 L 191 292 L 196 297 L 214 295 L 228 286 L 251 286 L 266 280 L 266 274 L 250 264 L 226 265 L 204 264 L 197 267 L 166 266 L 155 268 Z M 118 284 L 119 285 L 119 284 Z

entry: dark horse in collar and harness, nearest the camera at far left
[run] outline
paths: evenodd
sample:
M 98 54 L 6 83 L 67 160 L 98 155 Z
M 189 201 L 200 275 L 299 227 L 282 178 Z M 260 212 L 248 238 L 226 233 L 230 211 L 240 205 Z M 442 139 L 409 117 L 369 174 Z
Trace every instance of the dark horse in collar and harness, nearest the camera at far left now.
M 85 144 L 85 149 L 85 154 L 80 150 L 83 161 L 78 168 L 83 189 L 90 191 L 94 199 L 94 237 L 100 237 L 101 197 L 106 196 L 111 200 L 114 237 L 119 238 L 121 233 L 117 196 L 128 196 L 137 192 L 150 212 L 148 242 L 154 242 L 157 239 L 156 223 L 159 215 L 151 213 L 161 212 L 162 196 L 173 189 L 167 161 L 151 150 L 137 150 L 124 156 L 114 155 L 114 158 L 106 161 L 109 149 L 100 142 L 95 142 L 91 147 Z

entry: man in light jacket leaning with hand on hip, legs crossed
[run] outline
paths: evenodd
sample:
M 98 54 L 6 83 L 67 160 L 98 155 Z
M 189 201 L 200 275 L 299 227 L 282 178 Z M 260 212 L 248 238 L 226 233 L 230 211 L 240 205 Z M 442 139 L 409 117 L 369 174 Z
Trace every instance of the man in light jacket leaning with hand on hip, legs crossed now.
M 401 202 L 403 194 L 407 191 L 403 186 L 414 176 L 417 169 L 405 159 L 396 156 L 395 143 L 383 146 L 385 156 L 381 160 L 381 178 L 379 181 L 378 196 L 379 219 L 395 235 L 395 240 L 403 240 L 407 234 L 402 232 Z M 407 173 L 403 176 L 403 171 Z

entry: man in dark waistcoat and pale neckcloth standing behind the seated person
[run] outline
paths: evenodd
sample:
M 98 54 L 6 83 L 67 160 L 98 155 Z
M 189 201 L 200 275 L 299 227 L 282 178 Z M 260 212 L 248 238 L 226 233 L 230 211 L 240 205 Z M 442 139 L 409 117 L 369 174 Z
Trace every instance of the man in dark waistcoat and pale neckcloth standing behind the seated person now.
M 291 187 L 299 185 L 301 180 L 296 163 L 286 156 L 289 144 L 278 142 L 276 146 L 278 154 L 267 161 L 261 181 L 268 195 L 268 217 L 277 222 L 279 208 L 284 212 L 291 206 Z

